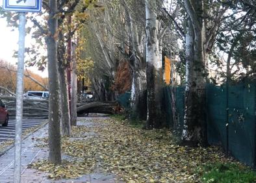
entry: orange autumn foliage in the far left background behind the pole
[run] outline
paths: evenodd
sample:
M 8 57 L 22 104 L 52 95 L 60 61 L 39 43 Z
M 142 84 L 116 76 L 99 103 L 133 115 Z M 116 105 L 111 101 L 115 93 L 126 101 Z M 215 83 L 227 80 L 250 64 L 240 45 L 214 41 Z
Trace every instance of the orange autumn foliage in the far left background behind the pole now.
M 3 88 L 7 88 L 8 90 L 15 92 L 16 91 L 16 70 L 17 67 L 10 64 L 9 62 L 5 62 L 0 60 L 0 86 Z M 37 80 L 44 86 L 47 86 L 48 79 L 40 77 L 33 73 L 32 71 L 26 70 L 24 71 L 24 75 L 30 76 L 33 79 Z M 34 81 L 29 79 L 29 77 L 24 77 L 24 90 L 44 90 L 42 86 L 39 86 Z

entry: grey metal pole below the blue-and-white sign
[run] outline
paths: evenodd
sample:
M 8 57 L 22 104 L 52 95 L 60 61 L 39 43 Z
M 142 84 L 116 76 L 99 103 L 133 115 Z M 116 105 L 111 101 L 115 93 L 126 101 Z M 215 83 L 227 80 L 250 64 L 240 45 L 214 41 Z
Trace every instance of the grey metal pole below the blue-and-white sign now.
M 14 154 L 14 183 L 21 182 L 21 132 L 23 118 L 23 71 L 25 53 L 25 12 L 19 12 L 19 51 L 16 84 L 16 125 Z

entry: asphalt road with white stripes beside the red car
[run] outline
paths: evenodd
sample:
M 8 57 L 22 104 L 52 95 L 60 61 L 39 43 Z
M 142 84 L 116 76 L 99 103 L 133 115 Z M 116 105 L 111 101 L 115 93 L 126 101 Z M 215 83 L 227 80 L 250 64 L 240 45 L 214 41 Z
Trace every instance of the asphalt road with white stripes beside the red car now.
M 45 119 L 23 119 L 22 132 L 37 125 L 41 125 Z M 9 119 L 8 127 L 0 125 L 0 141 L 15 139 L 15 119 Z

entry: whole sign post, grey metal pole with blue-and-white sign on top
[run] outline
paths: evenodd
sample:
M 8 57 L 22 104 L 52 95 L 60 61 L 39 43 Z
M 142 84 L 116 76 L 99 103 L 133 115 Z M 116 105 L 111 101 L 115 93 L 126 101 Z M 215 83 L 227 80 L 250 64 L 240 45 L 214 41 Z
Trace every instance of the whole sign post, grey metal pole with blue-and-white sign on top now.
M 25 53 L 25 12 L 40 12 L 42 0 L 3 0 L 3 10 L 19 12 L 19 50 L 16 82 L 16 125 L 14 154 L 14 183 L 21 182 L 21 134 L 23 119 L 23 72 Z

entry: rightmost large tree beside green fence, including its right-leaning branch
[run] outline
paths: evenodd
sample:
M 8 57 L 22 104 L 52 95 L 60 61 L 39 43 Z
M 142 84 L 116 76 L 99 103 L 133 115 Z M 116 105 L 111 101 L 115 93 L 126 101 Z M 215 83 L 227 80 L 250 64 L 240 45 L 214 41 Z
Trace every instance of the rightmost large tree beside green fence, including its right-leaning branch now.
M 180 1 L 188 15 L 186 27 L 186 91 L 183 143 L 207 145 L 205 84 L 208 56 L 220 32 L 226 7 L 218 1 Z

